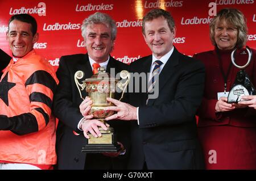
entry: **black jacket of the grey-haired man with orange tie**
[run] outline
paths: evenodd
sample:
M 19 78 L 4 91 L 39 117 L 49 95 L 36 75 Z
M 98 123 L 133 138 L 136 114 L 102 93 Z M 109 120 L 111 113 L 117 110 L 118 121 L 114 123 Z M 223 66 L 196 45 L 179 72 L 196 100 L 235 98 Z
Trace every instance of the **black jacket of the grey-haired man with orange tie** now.
M 115 68 L 115 74 L 127 70 L 128 66 L 110 57 L 106 71 Z M 53 98 L 53 112 L 59 119 L 57 127 L 57 167 L 58 169 L 126 169 L 127 155 L 119 155 L 117 158 L 106 157 L 103 154 L 81 153 L 86 145 L 87 139 L 77 129 L 77 124 L 82 119 L 79 106 L 82 102 L 79 91 L 74 81 L 76 71 L 82 70 L 85 78 L 92 77 L 93 72 L 90 66 L 88 54 L 73 54 L 60 58 L 60 66 L 57 70 L 59 85 Z M 85 98 L 86 91 L 82 91 Z M 129 150 L 129 126 L 127 121 L 109 121 L 110 127 L 117 133 L 117 141 L 122 142 Z M 80 132 L 79 136 L 73 131 Z

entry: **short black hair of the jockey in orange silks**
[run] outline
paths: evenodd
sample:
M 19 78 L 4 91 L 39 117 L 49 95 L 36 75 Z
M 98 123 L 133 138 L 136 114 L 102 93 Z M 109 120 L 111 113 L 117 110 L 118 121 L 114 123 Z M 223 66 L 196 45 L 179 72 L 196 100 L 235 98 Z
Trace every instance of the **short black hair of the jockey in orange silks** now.
M 15 19 L 19 20 L 20 22 L 25 22 L 25 23 L 31 24 L 31 32 L 32 32 L 33 36 L 38 31 L 38 24 L 36 23 L 35 18 L 29 14 L 16 14 L 16 15 L 11 16 L 11 18 L 9 20 L 9 24 L 8 24 L 8 29 L 9 29 L 10 23 Z

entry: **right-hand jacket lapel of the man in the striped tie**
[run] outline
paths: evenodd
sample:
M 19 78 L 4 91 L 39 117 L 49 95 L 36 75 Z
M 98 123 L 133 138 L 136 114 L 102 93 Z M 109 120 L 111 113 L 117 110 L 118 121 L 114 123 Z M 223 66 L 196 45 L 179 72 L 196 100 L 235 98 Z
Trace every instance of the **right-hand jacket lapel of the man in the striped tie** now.
M 166 62 L 166 65 L 164 65 L 163 70 L 161 71 L 159 75 L 159 94 L 160 91 L 163 89 L 164 85 L 167 83 L 167 81 L 170 79 L 172 75 L 173 68 L 179 64 L 179 52 L 174 47 L 174 52 L 172 52 L 171 57 Z M 155 102 L 155 99 L 148 100 L 147 105 L 150 106 Z

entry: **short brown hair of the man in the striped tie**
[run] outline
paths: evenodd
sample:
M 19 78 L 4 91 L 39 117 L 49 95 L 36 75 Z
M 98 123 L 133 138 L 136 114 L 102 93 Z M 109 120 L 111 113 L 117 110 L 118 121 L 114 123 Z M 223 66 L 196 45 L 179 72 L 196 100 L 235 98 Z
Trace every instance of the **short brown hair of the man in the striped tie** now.
M 147 12 L 147 14 L 143 17 L 143 20 L 142 20 L 142 32 L 144 35 L 145 35 L 145 22 L 151 21 L 160 16 L 163 16 L 164 19 L 167 20 L 168 27 L 170 28 L 171 31 L 172 29 L 174 29 L 175 27 L 174 18 L 168 11 L 165 11 L 163 9 L 152 9 Z

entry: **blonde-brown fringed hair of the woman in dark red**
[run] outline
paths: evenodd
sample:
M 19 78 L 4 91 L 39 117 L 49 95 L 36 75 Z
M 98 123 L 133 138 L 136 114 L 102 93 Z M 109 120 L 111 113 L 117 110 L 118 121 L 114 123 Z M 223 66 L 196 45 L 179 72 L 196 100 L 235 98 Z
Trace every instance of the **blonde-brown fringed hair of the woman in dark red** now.
M 210 40 L 212 44 L 215 46 L 216 41 L 214 39 L 214 28 L 217 22 L 226 21 L 226 23 L 234 26 L 238 30 L 237 36 L 237 48 L 242 48 L 247 41 L 247 26 L 245 16 L 242 14 L 240 10 L 226 8 L 218 11 L 217 16 L 215 16 L 210 22 Z

